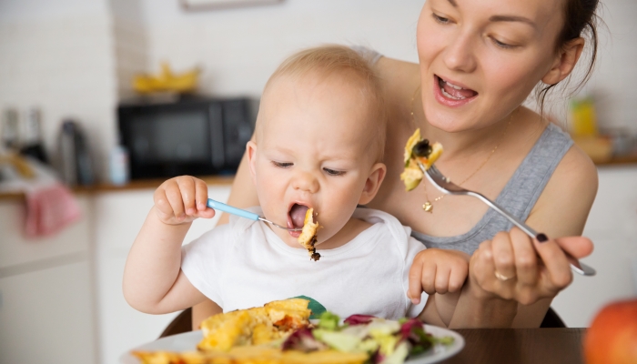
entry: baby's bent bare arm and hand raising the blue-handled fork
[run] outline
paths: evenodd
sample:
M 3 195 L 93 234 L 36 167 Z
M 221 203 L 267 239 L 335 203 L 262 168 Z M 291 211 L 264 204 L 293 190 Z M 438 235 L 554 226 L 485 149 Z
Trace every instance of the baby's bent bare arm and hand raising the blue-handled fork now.
M 192 221 L 211 218 L 207 186 L 196 177 L 168 179 L 157 187 L 124 269 L 124 297 L 139 311 L 162 314 L 189 308 L 206 297 L 181 271 L 181 244 Z

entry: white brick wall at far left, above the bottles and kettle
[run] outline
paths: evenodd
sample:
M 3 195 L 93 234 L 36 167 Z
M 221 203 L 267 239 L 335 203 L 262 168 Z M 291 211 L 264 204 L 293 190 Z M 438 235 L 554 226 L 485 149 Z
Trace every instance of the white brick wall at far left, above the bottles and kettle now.
M 40 107 L 49 152 L 64 118 L 82 122 L 100 176 L 115 142 L 111 22 L 106 0 L 0 1 L 0 110 Z

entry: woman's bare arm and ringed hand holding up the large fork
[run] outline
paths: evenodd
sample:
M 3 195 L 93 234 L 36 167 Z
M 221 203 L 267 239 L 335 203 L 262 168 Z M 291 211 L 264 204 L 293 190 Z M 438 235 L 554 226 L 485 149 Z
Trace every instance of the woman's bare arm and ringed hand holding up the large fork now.
M 549 237 L 570 238 L 542 243 L 514 228 L 480 244 L 450 326 L 539 327 L 552 298 L 571 284 L 571 269 L 561 249 L 575 258 L 591 254 L 591 240 L 577 236 L 596 193 L 595 166 L 579 148 L 571 147 L 527 219 L 529 226 Z M 511 279 L 495 278 L 496 270 Z

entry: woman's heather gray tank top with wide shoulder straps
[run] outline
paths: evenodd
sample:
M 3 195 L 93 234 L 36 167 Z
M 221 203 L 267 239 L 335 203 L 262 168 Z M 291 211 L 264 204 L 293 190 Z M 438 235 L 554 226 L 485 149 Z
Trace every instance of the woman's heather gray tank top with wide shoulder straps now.
M 370 65 L 375 64 L 382 56 L 363 46 L 351 48 Z M 559 126 L 549 124 L 495 202 L 525 221 L 572 143 L 571 137 L 561 131 Z M 509 220 L 490 208 L 476 226 L 462 235 L 431 237 L 412 230 L 411 236 L 420 240 L 427 248 L 457 249 L 472 254 L 482 241 L 490 240 L 500 231 L 509 231 L 511 227 L 513 224 Z

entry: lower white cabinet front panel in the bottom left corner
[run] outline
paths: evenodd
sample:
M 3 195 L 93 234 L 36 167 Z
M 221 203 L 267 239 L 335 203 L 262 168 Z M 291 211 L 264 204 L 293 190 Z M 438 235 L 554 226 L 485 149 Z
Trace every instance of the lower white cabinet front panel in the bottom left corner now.
M 0 278 L 0 363 L 96 363 L 88 262 Z

